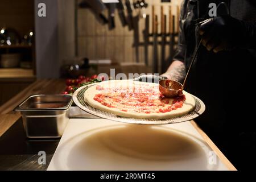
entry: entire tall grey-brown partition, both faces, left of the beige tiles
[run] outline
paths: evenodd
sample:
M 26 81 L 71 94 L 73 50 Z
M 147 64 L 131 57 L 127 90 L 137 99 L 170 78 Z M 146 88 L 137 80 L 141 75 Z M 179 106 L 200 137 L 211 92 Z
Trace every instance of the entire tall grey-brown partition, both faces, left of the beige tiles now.
M 39 17 L 38 3 L 46 4 Z M 35 0 L 36 76 L 58 78 L 64 60 L 75 57 L 75 0 Z

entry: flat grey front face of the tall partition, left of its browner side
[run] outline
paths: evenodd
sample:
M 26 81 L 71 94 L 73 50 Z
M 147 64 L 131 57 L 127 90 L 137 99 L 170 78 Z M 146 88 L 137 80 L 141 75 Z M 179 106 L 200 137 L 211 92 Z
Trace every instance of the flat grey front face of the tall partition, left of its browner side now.
M 46 4 L 46 17 L 38 16 L 38 4 Z M 58 1 L 35 0 L 36 77 L 59 77 Z M 67 45 L 68 46 L 68 45 Z

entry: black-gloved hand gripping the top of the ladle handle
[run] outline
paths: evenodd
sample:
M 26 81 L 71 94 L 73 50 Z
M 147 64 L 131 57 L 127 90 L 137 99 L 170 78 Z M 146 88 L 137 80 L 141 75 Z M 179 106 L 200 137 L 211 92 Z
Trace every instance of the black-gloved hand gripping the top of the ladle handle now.
M 202 44 L 213 52 L 230 51 L 234 48 L 255 48 L 256 24 L 217 16 L 200 22 Z M 253 41 L 254 40 L 254 41 Z

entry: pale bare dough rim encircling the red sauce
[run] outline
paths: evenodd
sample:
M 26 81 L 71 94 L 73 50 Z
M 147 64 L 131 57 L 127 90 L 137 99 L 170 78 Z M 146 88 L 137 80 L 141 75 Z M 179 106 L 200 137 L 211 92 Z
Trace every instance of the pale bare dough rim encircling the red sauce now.
M 95 84 L 88 88 L 84 93 L 84 101 L 87 102 L 90 106 L 100 109 L 102 111 L 107 111 L 109 113 L 113 113 L 122 117 L 127 118 L 145 118 L 145 119 L 167 119 L 167 118 L 174 118 L 179 117 L 181 115 L 187 114 L 189 111 L 193 110 L 195 107 L 195 99 L 191 96 L 191 94 L 185 92 L 183 90 L 183 94 L 186 97 L 186 100 L 183 103 L 183 106 L 172 110 L 167 113 L 135 113 L 131 111 L 122 111 L 117 108 L 108 107 L 102 105 L 100 102 L 95 101 L 93 98 L 96 94 L 101 93 L 100 90 L 96 89 L 97 85 L 101 85 L 108 88 L 114 88 L 116 86 L 138 86 L 138 85 L 146 85 L 152 86 L 152 88 L 156 88 L 155 83 L 148 83 L 148 82 L 139 82 L 139 81 L 132 81 L 132 80 L 113 80 L 113 81 L 104 81 L 98 84 Z

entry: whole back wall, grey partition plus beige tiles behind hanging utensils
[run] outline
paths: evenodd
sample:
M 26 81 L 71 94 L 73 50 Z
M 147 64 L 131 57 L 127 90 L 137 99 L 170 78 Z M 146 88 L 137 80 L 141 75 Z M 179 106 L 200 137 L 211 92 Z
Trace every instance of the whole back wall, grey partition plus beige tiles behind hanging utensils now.
M 77 1 L 81 2 L 81 0 Z M 179 5 L 181 1 L 182 0 L 173 0 L 172 5 Z M 61 65 L 72 64 L 72 60 L 74 60 L 75 56 L 88 57 L 90 60 L 111 59 L 115 63 L 135 63 L 133 31 L 129 31 L 127 27 L 121 27 L 117 11 L 115 11 L 116 28 L 110 31 L 108 30 L 108 25 L 102 26 L 97 22 L 89 9 L 78 9 L 77 14 L 75 14 L 75 0 L 35 0 L 36 13 L 38 11 L 37 5 L 39 2 L 46 3 L 47 17 L 39 18 L 35 14 L 36 71 L 38 78 L 59 77 Z M 160 5 L 164 5 L 164 12 L 166 14 L 168 14 L 168 5 L 171 5 L 171 3 L 160 3 L 160 0 L 147 0 L 146 2 L 149 4 L 146 9 L 146 13 L 151 14 L 151 5 L 154 4 L 156 6 L 155 11 L 159 15 L 159 19 Z M 174 9 L 172 10 L 172 14 L 176 15 L 176 6 L 173 7 Z M 75 15 L 77 15 L 77 37 L 75 36 Z M 151 19 L 150 22 L 152 22 Z M 144 29 L 143 19 L 139 21 L 139 27 L 140 39 L 142 42 L 142 30 Z M 151 29 L 150 25 L 150 30 Z M 77 55 L 76 40 L 78 50 Z M 140 63 L 143 63 L 144 61 L 143 52 L 144 48 L 140 47 Z M 148 59 L 151 64 L 151 46 L 148 48 L 148 52 Z M 166 57 L 168 57 L 167 53 Z M 131 67 L 133 68 L 133 66 Z M 139 67 L 136 68 L 140 70 Z

